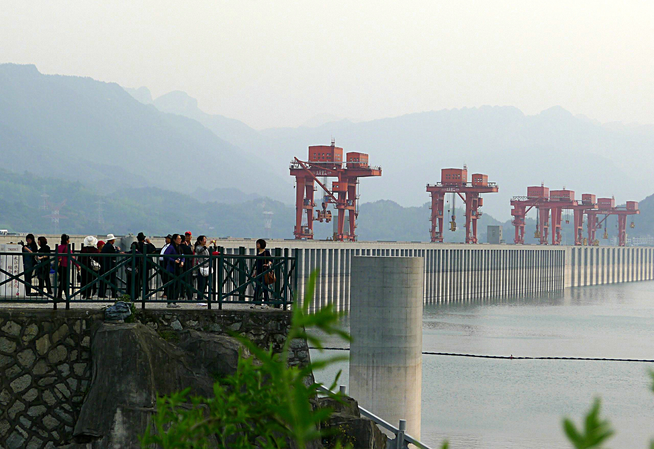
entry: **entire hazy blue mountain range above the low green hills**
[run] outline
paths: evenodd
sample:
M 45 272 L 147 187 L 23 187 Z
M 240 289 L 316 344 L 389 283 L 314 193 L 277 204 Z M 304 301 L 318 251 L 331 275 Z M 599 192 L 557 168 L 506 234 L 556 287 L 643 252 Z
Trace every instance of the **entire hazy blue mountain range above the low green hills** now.
M 499 193 L 484 197 L 481 229 L 508 224 L 509 199 L 541 182 L 551 189 L 575 190 L 577 197 L 586 192 L 615 195 L 618 203 L 652 191 L 654 125 L 601 124 L 561 107 L 532 116 L 515 107 L 485 106 L 370 122 L 332 119 L 337 117 L 318 114 L 305 126 L 258 131 L 204 112 L 182 91 L 153 99 L 145 87 L 44 75 L 34 65 L 0 65 L 0 150 L 9 156 L 5 169 L 28 181 L 41 176 L 79 182 L 75 185 L 89 195 L 125 204 L 143 205 L 150 195 L 157 203 L 161 195 L 170 195 L 173 206 L 252 208 L 267 198 L 279 203 L 274 220 L 283 223 L 279 237 L 291 237 L 292 231 L 294 182 L 288 162 L 294 156 L 305 159 L 307 146 L 328 144 L 332 137 L 346 152 L 366 152 L 373 165 L 383 167 L 380 178 L 360 182 L 362 239 L 425 240 L 425 184 L 438 182 L 443 167 L 467 164 L 469 173 L 486 173 L 499 184 Z M 11 201 L 21 190 L 5 194 Z M 56 195 L 51 195 L 53 202 L 66 197 L 63 190 Z M 164 209 L 176 213 L 175 207 Z M 250 216 L 236 208 L 229 213 L 260 221 L 254 218 L 260 211 Z M 324 231 L 317 227 L 322 237 L 331 235 L 329 226 L 322 227 Z M 236 230 L 245 235 L 245 229 Z

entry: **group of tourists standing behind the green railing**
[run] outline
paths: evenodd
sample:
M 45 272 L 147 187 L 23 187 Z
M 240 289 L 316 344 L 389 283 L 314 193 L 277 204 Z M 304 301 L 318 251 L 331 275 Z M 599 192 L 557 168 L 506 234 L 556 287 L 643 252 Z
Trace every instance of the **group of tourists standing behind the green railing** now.
M 131 244 L 126 252 L 135 252 L 136 254 L 159 254 L 156 260 L 160 265 L 159 270 L 162 285 L 165 285 L 162 299 L 167 300 L 167 307 L 177 308 L 177 300 L 192 301 L 194 299 L 194 290 L 198 291 L 196 299 L 204 299 L 207 290 L 207 279 L 209 277 L 209 256 L 210 254 L 217 255 L 218 248 L 216 241 L 213 240 L 213 246 L 207 246 L 207 236 L 200 235 L 194 243 L 192 243 L 192 233 L 186 231 L 183 234 L 169 234 L 165 237 L 165 245 L 158 250 L 150 239 L 144 233 L 139 232 L 137 241 Z M 39 237 L 38 246 L 33 234 L 27 234 L 25 242 L 22 243 L 23 252 L 23 267 L 25 278 L 25 294 L 27 296 L 43 296 L 43 293 L 32 292 L 32 279 L 36 277 L 39 282 L 39 291 L 46 291 L 52 295 L 52 284 L 50 282 L 50 264 L 54 260 L 52 250 L 48 246 L 48 239 L 46 237 Z M 63 256 L 69 252 L 70 237 L 67 234 L 61 234 L 61 242 L 57 246 L 56 252 L 58 257 L 57 272 L 58 272 L 58 291 L 57 296 L 62 298 L 65 286 L 71 282 L 69 278 L 72 270 L 68 267 L 69 260 L 74 265 L 77 271 L 77 281 L 82 290 L 82 299 L 91 299 L 97 294 L 100 299 L 107 298 L 107 290 L 111 291 L 111 297 L 118 297 L 116 290 L 117 276 L 116 264 L 118 263 L 116 256 L 112 254 L 124 254 L 121 252 L 120 246 L 116 246 L 116 237 L 109 234 L 106 241 L 98 240 L 96 237 L 89 235 L 84 239 L 82 249 L 78 254 L 73 257 Z M 271 257 L 269 250 L 266 249 L 266 241 L 258 239 L 256 241 L 257 254 L 259 256 Z M 40 254 L 33 256 L 32 254 Z M 107 256 L 99 256 L 106 254 Z M 190 258 L 188 256 L 198 256 Z M 143 290 L 143 276 L 150 279 L 152 269 L 154 268 L 155 261 L 148 258 L 145 264 L 140 259 L 137 259 L 135 264 L 126 264 L 127 288 L 126 291 L 132 291 L 132 277 L 131 271 L 136 270 L 135 278 L 135 297 L 137 299 Z M 270 259 L 256 259 L 254 264 L 254 271 L 252 274 L 264 273 L 264 270 L 272 264 Z M 193 269 L 195 266 L 199 267 Z M 82 269 L 84 267 L 84 269 Z M 143 273 L 145 270 L 146 273 Z M 105 275 L 106 281 L 97 281 L 97 276 L 93 272 Z M 145 286 L 145 291 L 150 291 L 149 282 Z M 268 292 L 262 288 L 260 284 L 256 283 L 254 288 L 254 297 L 258 299 L 263 295 L 264 300 L 268 299 Z M 206 307 L 207 303 L 195 303 L 199 307 Z

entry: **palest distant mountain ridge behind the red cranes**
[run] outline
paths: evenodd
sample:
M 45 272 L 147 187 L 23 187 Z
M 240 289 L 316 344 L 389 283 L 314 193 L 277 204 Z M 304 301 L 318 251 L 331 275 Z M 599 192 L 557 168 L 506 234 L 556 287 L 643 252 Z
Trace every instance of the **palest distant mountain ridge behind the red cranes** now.
M 307 146 L 334 137 L 345 151 L 368 153 L 371 163 L 383 167 L 381 178 L 361 181 L 362 201 L 421 205 L 428 199 L 425 185 L 440 180 L 441 168 L 467 164 L 469 174 L 485 173 L 500 186 L 499 193 L 485 195 L 483 211 L 503 220 L 510 217 L 509 199 L 525 195 L 527 186 L 544 182 L 552 190 L 574 190 L 579 198 L 594 193 L 636 200 L 650 193 L 654 171 L 654 125 L 601 124 L 560 106 L 532 116 L 515 107 L 483 106 L 259 132 L 243 122 L 221 124 L 224 117 L 204 114 L 190 101 L 162 101 L 158 107 L 195 118 L 219 137 L 261 154 L 269 173 L 289 182 L 288 161 L 306 158 Z M 285 201 L 294 201 L 292 194 L 286 188 Z

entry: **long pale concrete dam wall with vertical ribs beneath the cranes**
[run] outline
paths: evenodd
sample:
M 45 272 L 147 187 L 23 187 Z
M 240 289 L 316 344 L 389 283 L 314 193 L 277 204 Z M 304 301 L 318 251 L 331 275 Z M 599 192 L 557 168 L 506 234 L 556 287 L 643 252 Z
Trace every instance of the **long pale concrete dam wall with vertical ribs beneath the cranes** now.
M 254 255 L 255 242 L 219 239 L 218 245 L 226 254 L 238 254 L 239 247 L 243 247 L 245 254 Z M 424 303 L 654 278 L 654 248 L 635 246 L 270 240 L 267 248 L 287 248 L 290 255 L 298 256 L 300 297 L 311 271 L 320 271 L 313 309 L 333 303 L 338 310 L 349 310 L 353 256 L 422 258 Z

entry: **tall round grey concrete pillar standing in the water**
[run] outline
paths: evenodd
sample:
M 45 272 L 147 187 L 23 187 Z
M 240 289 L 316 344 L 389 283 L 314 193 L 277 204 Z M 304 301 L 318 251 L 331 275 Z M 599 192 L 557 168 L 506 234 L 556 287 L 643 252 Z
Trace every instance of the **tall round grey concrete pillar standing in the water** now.
M 422 258 L 355 256 L 351 264 L 350 395 L 420 438 Z

